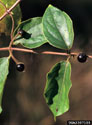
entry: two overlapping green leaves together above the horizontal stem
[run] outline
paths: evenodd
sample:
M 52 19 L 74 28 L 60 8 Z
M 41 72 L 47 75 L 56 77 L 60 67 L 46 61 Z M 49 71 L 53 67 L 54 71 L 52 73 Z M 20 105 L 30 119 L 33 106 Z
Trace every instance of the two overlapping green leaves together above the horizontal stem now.
M 24 30 L 31 34 L 28 39 L 18 36 L 16 44 L 26 48 L 37 48 L 48 42 L 50 45 L 69 50 L 73 45 L 74 32 L 70 17 L 63 11 L 51 5 L 46 9 L 43 17 L 31 18 L 22 22 L 15 30 Z

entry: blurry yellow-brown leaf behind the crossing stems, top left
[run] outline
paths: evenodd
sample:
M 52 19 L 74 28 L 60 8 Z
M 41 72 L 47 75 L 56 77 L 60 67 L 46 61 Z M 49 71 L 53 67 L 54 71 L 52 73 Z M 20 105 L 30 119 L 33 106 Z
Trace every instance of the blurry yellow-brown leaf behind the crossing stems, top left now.
M 8 9 L 16 2 L 16 0 L 0 0 L 0 1 L 4 3 Z M 5 13 L 5 11 L 6 11 L 5 8 L 2 6 L 2 4 L 0 4 L 0 17 Z M 15 27 L 17 27 L 17 25 L 21 22 L 20 6 L 17 5 L 12 12 L 13 12 Z M 0 21 L 0 33 L 5 33 L 6 35 L 9 35 L 11 27 L 12 27 L 12 21 L 9 15 Z

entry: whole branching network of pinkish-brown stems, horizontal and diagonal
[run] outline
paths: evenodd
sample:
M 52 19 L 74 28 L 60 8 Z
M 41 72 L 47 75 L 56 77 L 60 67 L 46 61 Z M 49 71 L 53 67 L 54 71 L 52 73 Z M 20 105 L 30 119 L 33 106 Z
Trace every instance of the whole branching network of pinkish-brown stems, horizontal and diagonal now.
M 10 56 L 12 59 L 18 63 L 18 60 L 13 56 L 12 51 L 20 51 L 20 52 L 27 52 L 27 53 L 35 53 L 35 54 L 47 54 L 47 55 L 62 55 L 62 56 L 77 56 L 79 53 L 61 53 L 61 52 L 52 52 L 52 51 L 43 51 L 43 52 L 35 52 L 31 49 L 24 49 L 24 48 L 14 48 L 12 47 L 14 39 L 17 37 L 17 35 L 13 38 L 13 32 L 14 32 L 14 19 L 12 16 L 11 11 L 21 2 L 21 0 L 17 0 L 10 9 L 7 9 L 6 6 L 0 1 L 0 3 L 3 5 L 3 7 L 6 9 L 6 12 L 0 17 L 0 21 L 6 17 L 8 14 L 10 15 L 12 19 L 12 30 L 11 30 L 11 42 L 9 44 L 9 47 L 0 48 L 0 51 L 9 51 Z M 88 55 L 89 58 L 92 58 L 92 55 Z

